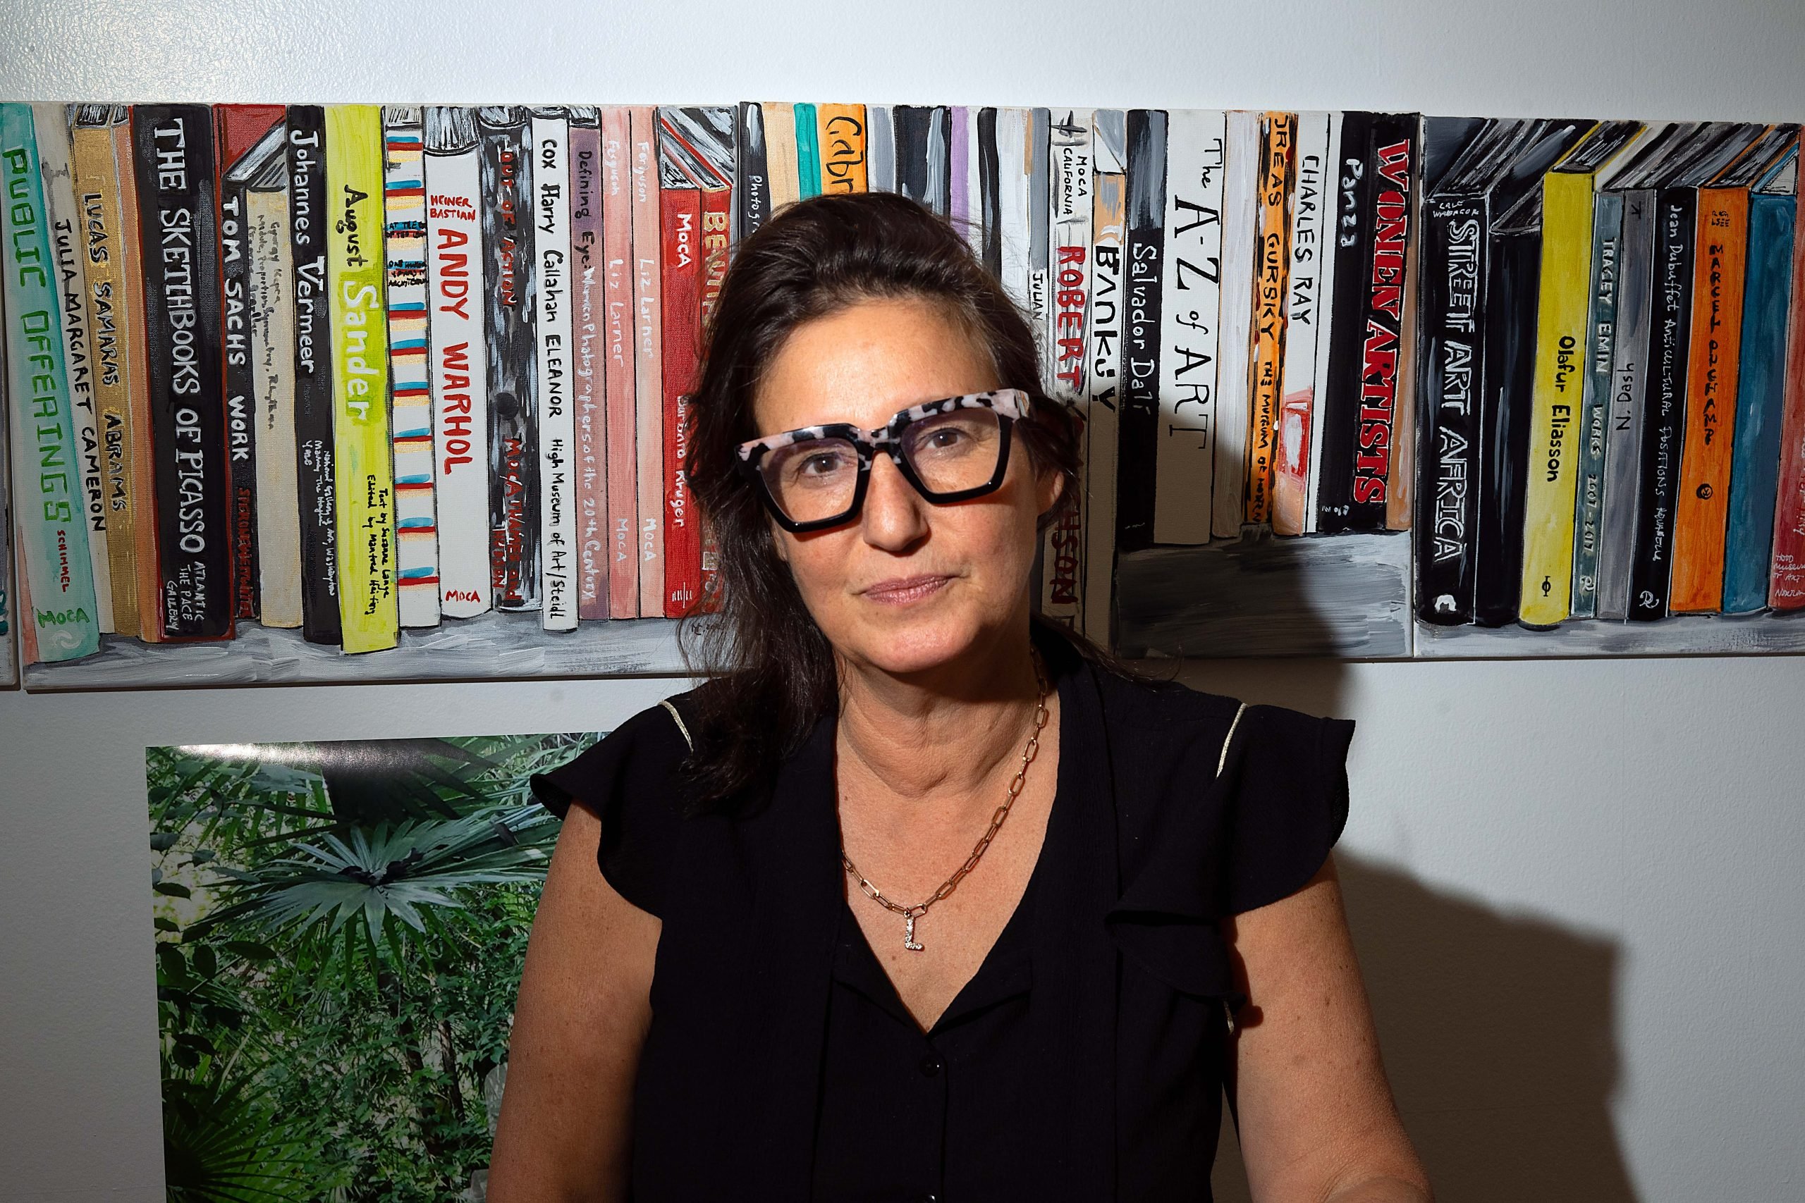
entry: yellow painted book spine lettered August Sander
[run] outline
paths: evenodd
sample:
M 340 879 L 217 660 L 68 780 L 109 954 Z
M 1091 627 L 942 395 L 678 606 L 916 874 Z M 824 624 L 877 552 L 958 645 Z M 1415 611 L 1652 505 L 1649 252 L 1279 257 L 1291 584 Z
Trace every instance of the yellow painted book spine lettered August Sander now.
M 395 599 L 395 473 L 388 458 L 379 106 L 327 106 L 327 180 L 339 620 L 345 651 L 379 651 L 395 646 L 401 626 Z

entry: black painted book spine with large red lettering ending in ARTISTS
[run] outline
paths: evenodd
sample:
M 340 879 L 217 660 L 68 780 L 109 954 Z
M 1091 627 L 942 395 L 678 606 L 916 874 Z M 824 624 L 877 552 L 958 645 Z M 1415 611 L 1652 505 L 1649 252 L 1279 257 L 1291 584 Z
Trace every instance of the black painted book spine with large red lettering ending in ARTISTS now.
M 1372 124 L 1366 179 L 1372 198 L 1368 260 L 1363 283 L 1359 397 L 1354 424 L 1354 469 L 1348 530 L 1384 530 L 1392 438 L 1397 431 L 1397 373 L 1404 359 L 1404 281 L 1410 278 L 1417 207 L 1417 117 L 1381 114 Z

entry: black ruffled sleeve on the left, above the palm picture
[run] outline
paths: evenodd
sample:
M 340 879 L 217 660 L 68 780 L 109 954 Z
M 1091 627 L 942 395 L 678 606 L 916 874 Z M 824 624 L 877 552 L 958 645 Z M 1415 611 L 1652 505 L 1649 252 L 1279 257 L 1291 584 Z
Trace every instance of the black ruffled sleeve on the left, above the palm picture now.
M 531 777 L 532 794 L 560 819 L 572 803 L 601 819 L 601 875 L 617 895 L 657 916 L 664 914 L 664 882 L 682 835 L 675 772 L 688 752 L 682 729 L 661 703 L 569 763 Z

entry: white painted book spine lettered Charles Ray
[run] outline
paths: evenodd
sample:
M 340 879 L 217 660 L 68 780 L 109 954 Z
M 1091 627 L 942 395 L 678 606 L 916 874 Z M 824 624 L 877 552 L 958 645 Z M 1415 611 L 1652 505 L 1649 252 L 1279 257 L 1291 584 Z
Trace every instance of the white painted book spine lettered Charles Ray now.
M 1278 464 L 1305 464 L 1312 453 L 1316 330 L 1323 319 L 1323 265 L 1334 258 L 1328 233 L 1328 114 L 1298 114 L 1291 184 L 1291 263 L 1285 283 L 1285 368 L 1278 413 Z M 1294 485 L 1291 485 L 1294 489 Z

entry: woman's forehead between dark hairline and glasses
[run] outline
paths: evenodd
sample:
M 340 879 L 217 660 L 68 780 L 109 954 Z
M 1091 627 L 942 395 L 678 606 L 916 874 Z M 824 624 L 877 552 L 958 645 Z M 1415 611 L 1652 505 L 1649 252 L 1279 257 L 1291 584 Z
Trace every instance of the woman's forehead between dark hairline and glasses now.
M 926 301 L 861 301 L 783 341 L 753 399 L 760 433 L 852 422 L 883 426 L 924 400 L 998 388 L 989 355 Z

